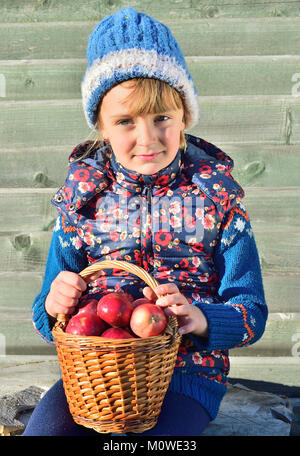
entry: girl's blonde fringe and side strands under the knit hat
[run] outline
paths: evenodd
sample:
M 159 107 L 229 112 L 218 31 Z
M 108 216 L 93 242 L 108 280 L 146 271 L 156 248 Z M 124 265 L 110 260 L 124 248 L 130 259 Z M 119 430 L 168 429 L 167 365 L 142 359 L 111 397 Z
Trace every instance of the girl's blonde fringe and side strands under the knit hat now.
M 126 101 L 134 100 L 131 103 L 132 116 L 156 114 L 166 112 L 172 109 L 183 110 L 183 122 L 187 124 L 190 121 L 190 112 L 183 95 L 171 87 L 168 83 L 154 78 L 135 78 L 121 82 L 122 85 L 133 87 L 134 90 L 127 97 Z M 103 136 L 100 132 L 101 123 L 101 102 L 97 109 L 97 136 L 93 144 L 89 147 L 85 156 L 94 148 L 99 142 L 103 141 Z M 182 149 L 186 149 L 186 139 L 184 131 L 180 132 L 180 144 Z

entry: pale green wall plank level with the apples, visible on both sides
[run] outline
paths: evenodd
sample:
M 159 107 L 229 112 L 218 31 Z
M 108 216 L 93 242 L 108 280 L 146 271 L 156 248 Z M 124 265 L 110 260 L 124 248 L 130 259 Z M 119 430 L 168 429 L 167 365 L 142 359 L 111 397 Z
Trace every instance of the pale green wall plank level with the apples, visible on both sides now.
M 39 294 L 44 271 L 0 273 L 1 309 L 14 307 L 28 311 Z M 263 274 L 266 302 L 270 313 L 291 314 L 299 311 L 300 273 Z

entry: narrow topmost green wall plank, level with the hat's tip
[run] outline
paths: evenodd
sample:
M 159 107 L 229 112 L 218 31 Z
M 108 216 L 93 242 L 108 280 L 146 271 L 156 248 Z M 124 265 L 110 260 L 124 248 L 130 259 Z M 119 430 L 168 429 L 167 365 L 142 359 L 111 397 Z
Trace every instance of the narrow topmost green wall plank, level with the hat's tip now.
M 3 22 L 37 22 L 56 20 L 100 20 L 104 15 L 111 14 L 123 6 L 133 6 L 156 17 L 158 20 L 168 18 L 223 18 L 223 17 L 294 17 L 299 16 L 298 1 L 273 2 L 267 0 L 181 0 L 174 2 L 164 0 L 127 0 L 124 2 L 97 2 L 82 3 L 81 1 L 58 0 L 41 1 L 3 0 L 0 12 Z

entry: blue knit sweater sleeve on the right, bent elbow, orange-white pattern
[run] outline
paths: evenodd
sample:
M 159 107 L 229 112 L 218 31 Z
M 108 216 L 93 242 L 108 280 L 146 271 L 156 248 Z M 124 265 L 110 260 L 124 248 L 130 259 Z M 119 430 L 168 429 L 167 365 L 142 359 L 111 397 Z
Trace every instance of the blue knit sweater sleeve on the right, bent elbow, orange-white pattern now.
M 205 314 L 208 338 L 192 335 L 199 350 L 231 349 L 256 342 L 268 316 L 259 256 L 249 216 L 233 207 L 221 226 L 215 250 L 218 295 L 212 303 L 194 302 Z

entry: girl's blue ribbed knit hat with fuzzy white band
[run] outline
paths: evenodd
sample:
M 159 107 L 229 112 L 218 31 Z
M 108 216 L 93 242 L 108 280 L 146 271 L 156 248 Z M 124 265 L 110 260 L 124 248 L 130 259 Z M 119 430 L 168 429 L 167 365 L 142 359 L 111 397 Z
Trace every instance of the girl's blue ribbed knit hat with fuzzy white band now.
M 190 127 L 198 121 L 197 91 L 183 54 L 167 26 L 127 7 L 105 17 L 90 35 L 81 90 L 90 128 L 105 93 L 128 79 L 160 79 L 185 97 Z

